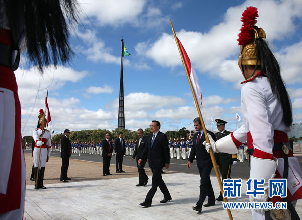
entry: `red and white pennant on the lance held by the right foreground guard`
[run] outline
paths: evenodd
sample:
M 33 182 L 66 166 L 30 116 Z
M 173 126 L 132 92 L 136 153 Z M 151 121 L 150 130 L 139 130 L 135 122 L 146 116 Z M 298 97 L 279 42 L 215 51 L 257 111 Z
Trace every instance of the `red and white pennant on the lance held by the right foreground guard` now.
M 199 86 L 198 77 L 196 75 L 195 70 L 193 69 L 193 67 L 191 65 L 191 61 L 190 61 L 190 58 L 188 57 L 187 52 L 185 51 L 185 49 L 184 49 L 183 45 L 181 44 L 180 40 L 178 38 L 177 38 L 177 40 L 179 42 L 181 52 L 184 56 L 185 64 L 187 66 L 187 69 L 188 69 L 188 72 L 189 72 L 189 75 L 190 75 L 190 79 L 191 79 L 191 82 L 192 82 L 194 93 L 195 93 L 196 98 L 197 98 L 198 105 L 199 105 L 200 108 L 202 108 L 202 102 L 201 102 L 202 92 L 201 92 L 201 89 L 200 89 L 200 86 Z

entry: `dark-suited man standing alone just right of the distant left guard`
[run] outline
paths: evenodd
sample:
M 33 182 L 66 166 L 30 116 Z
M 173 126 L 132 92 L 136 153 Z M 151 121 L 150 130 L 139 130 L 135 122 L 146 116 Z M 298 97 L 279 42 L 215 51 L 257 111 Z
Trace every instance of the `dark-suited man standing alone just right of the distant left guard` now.
M 62 167 L 61 167 L 61 178 L 63 182 L 68 182 L 71 178 L 67 177 L 68 167 L 69 167 L 69 158 L 71 156 L 71 142 L 69 140 L 70 131 L 68 129 L 64 130 L 64 136 L 61 139 L 61 158 L 62 158 Z

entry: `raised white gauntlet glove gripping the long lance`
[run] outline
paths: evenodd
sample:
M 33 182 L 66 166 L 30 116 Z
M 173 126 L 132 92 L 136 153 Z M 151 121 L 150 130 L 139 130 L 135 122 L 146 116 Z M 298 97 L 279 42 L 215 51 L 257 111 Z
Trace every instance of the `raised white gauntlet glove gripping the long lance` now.
M 235 143 L 232 140 L 231 134 L 228 136 L 222 137 L 221 139 L 217 140 L 216 142 L 213 140 L 211 135 L 208 135 L 210 144 L 206 141 L 203 142 L 203 145 L 205 145 L 205 149 L 207 152 L 210 152 L 210 146 L 213 149 L 213 152 L 223 152 L 228 154 L 237 154 L 238 149 L 235 145 Z

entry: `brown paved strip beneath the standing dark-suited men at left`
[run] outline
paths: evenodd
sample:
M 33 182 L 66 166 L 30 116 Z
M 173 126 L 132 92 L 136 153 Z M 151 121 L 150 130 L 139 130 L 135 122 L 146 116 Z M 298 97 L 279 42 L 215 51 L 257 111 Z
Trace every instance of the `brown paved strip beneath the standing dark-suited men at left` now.
M 34 181 L 30 181 L 33 158 L 31 157 L 30 153 L 24 153 L 24 154 L 25 154 L 25 163 L 26 163 L 26 184 L 34 185 Z M 61 158 L 50 157 L 49 162 L 46 163 L 44 184 L 64 183 L 64 182 L 60 182 L 61 166 L 62 166 Z M 72 179 L 70 180 L 70 182 L 137 177 L 137 182 L 134 182 L 133 184 L 134 185 L 138 184 L 138 171 L 136 167 L 123 166 L 123 170 L 126 173 L 116 173 L 115 164 L 110 164 L 110 173 L 112 173 L 113 175 L 105 176 L 105 177 L 102 176 L 103 174 L 102 168 L 103 168 L 103 163 L 101 162 L 90 162 L 90 161 L 82 161 L 77 159 L 70 159 L 69 168 L 68 168 L 68 177 Z M 145 171 L 148 176 L 152 175 L 151 170 L 149 168 L 145 168 Z M 168 173 L 169 171 L 165 170 L 165 172 Z

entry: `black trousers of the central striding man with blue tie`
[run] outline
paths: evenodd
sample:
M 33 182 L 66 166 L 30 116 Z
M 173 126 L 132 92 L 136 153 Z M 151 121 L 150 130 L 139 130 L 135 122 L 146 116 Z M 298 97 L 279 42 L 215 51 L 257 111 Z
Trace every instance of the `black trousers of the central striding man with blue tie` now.
M 169 190 L 164 180 L 162 179 L 162 168 L 151 168 L 151 171 L 152 171 L 152 186 L 144 202 L 147 204 L 151 204 L 152 198 L 157 190 L 157 187 L 160 187 L 160 190 L 164 194 L 164 198 L 171 198 Z

